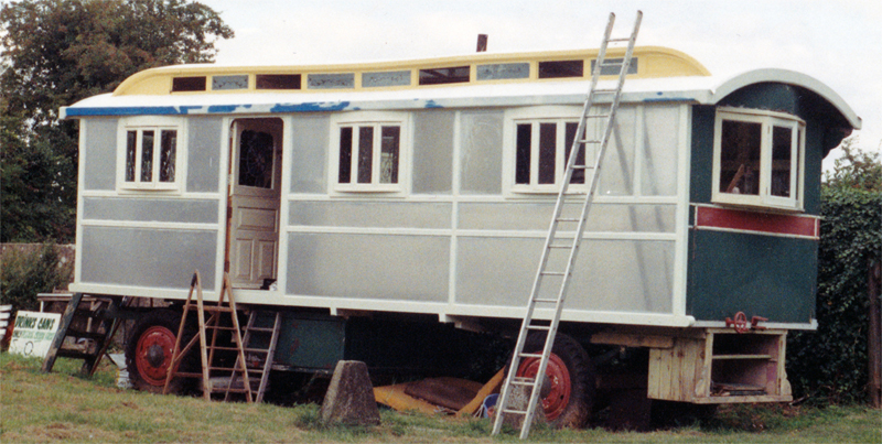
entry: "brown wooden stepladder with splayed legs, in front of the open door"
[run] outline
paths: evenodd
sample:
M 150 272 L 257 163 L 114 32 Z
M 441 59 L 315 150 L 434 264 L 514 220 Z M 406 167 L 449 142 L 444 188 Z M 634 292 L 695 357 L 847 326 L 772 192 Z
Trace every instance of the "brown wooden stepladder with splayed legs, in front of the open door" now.
M 193 300 L 194 294 L 196 296 L 195 301 Z M 182 346 L 191 311 L 196 314 L 198 329 Z M 183 358 L 191 353 L 196 343 L 198 343 L 200 348 L 202 371 L 193 372 L 180 369 Z M 234 359 L 229 358 L 230 354 L 235 356 Z M 230 360 L 235 364 L 229 365 Z M 198 271 L 193 273 L 163 393 L 169 392 L 170 383 L 174 378 L 201 379 L 202 393 L 205 400 L 211 400 L 214 393 L 223 393 L 224 400 L 229 400 L 232 396 L 237 393 L 244 396 L 247 402 L 254 402 L 255 400 L 245 359 L 245 345 L 239 326 L 236 300 L 233 296 L 233 288 L 226 273 L 224 273 L 223 286 L 216 302 L 206 302 L 204 300 L 202 277 Z M 236 379 L 241 381 L 239 387 L 235 387 L 233 383 Z

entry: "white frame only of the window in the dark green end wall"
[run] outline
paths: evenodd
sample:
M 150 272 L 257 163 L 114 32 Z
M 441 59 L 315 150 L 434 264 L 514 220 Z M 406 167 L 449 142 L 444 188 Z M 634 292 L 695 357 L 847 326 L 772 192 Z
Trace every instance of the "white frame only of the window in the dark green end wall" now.
M 722 124 L 723 120 L 760 123 L 760 191 L 757 195 L 725 193 L 720 191 L 722 170 Z M 788 197 L 772 194 L 772 142 L 775 127 L 789 128 L 790 136 L 790 183 Z M 767 207 L 783 210 L 802 212 L 805 189 L 805 144 L 806 123 L 796 116 L 784 112 L 762 111 L 743 108 L 722 107 L 717 109 L 713 128 L 713 175 L 711 199 L 717 204 L 731 204 L 755 207 Z

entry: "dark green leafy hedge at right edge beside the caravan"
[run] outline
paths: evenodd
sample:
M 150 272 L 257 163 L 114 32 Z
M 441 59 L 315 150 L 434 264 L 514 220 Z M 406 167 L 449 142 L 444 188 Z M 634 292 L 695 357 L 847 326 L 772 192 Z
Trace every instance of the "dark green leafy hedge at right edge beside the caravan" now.
M 882 193 L 825 186 L 818 250 L 817 332 L 792 333 L 787 375 L 813 403 L 868 399 L 868 269 L 882 260 Z

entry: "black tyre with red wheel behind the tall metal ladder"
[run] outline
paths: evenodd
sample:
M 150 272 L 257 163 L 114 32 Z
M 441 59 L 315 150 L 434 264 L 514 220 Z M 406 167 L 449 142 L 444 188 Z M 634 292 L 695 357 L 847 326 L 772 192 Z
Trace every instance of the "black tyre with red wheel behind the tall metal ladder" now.
M 524 344 L 525 353 L 541 351 L 545 335 L 531 335 Z M 519 377 L 536 377 L 539 359 L 524 358 Z M 541 405 L 546 421 L 556 427 L 582 427 L 591 416 L 594 403 L 594 367 L 588 353 L 576 339 L 558 334 L 546 368 Z

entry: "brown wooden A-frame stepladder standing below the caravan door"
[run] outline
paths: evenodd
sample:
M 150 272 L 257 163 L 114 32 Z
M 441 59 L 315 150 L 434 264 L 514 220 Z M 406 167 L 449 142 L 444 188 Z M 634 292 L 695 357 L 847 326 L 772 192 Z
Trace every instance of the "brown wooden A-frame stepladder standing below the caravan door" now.
M 196 301 L 193 301 L 193 293 L 196 293 Z M 226 302 L 224 301 L 226 299 Z M 200 329 L 193 338 L 182 348 L 181 338 L 184 335 L 187 314 L 195 305 L 195 312 L 198 317 Z M 205 318 L 205 313 L 209 313 L 208 318 Z M 229 314 L 230 325 L 220 323 L 222 314 Z M 217 333 L 229 332 L 233 346 L 217 345 Z M 211 332 L 211 339 L 208 338 Z M 195 346 L 196 342 L 200 343 L 200 351 L 202 357 L 202 372 L 187 372 L 179 371 L 179 366 L 183 357 Z M 215 351 L 236 351 L 236 364 L 233 367 L 216 366 Z M 217 297 L 216 304 L 206 304 L 202 296 L 202 277 L 198 270 L 193 273 L 193 280 L 190 283 L 190 294 L 187 294 L 186 303 L 184 304 L 184 312 L 181 315 L 181 325 L 178 328 L 178 338 L 174 342 L 174 351 L 172 353 L 172 361 L 169 366 L 169 372 L 165 377 L 165 387 L 162 392 L 169 392 L 169 386 L 175 377 L 181 378 L 201 378 L 202 379 L 202 396 L 206 401 L 211 401 L 212 393 L 224 393 L 224 399 L 229 399 L 230 393 L 243 393 L 248 402 L 254 402 L 254 394 L 251 392 L 251 383 L 248 379 L 248 368 L 245 365 L 245 347 L 243 345 L 241 329 L 239 328 L 238 311 L 236 310 L 236 301 L 233 297 L 233 286 L 229 283 L 229 274 L 224 273 L 224 283 L 220 289 L 220 295 Z M 234 388 L 233 383 L 217 385 L 212 381 L 212 375 L 215 372 L 229 373 L 230 381 L 237 377 L 241 378 L 244 385 L 241 388 Z

